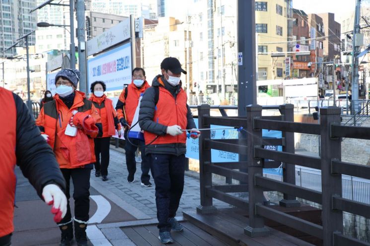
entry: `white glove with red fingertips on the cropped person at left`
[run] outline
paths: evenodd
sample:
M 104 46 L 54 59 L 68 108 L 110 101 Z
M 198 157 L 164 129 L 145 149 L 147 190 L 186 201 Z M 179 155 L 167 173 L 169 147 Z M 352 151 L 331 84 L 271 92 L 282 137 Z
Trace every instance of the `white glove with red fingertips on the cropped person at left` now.
M 54 214 L 54 221 L 60 222 L 67 213 L 67 197 L 58 185 L 48 184 L 42 189 L 42 196 L 45 203 L 53 205 L 51 212 Z

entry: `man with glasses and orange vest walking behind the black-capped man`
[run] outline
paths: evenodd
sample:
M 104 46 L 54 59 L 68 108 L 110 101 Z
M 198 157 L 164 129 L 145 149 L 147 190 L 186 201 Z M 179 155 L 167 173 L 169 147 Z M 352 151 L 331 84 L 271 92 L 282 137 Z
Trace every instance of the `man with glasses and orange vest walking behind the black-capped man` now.
M 118 99 L 116 110 L 117 116 L 120 120 L 122 126 L 125 128 L 125 155 L 126 155 L 126 165 L 129 175 L 127 176 L 127 181 L 132 183 L 135 181 L 135 172 L 136 172 L 136 160 L 135 152 L 137 151 L 137 146 L 144 146 L 144 141 L 130 138 L 128 141 L 127 132 L 130 126 L 136 122 L 132 122 L 134 119 L 136 108 L 139 104 L 139 98 L 142 93 L 144 93 L 150 85 L 146 81 L 147 77 L 145 76 L 145 71 L 142 68 L 135 68 L 132 71 L 132 82 L 125 87 L 121 92 L 121 95 Z M 131 143 L 132 144 L 131 144 Z M 150 163 L 148 157 L 145 155 L 145 148 L 140 148 L 141 157 L 142 157 L 142 176 L 141 184 L 145 187 L 150 187 L 151 183 L 149 182 L 150 175 Z

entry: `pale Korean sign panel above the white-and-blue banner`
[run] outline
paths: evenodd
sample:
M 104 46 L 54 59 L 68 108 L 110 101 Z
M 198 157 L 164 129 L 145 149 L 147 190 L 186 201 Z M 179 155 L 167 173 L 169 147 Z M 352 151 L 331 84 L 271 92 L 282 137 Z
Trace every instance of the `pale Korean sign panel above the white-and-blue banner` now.
M 108 31 L 87 40 L 87 56 L 105 50 L 131 37 L 130 18 L 127 18 Z

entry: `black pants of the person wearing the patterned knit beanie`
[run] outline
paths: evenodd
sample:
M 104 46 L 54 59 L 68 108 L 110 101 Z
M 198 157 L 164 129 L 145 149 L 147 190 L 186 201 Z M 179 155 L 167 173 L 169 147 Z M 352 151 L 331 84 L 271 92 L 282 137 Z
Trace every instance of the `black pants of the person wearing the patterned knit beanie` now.
M 77 220 L 88 221 L 88 211 L 90 209 L 90 173 L 91 168 L 61 168 L 64 178 L 66 179 L 66 196 L 67 196 L 67 214 L 58 224 L 65 224 L 71 221 L 70 207 L 70 181 L 74 186 L 74 217 Z

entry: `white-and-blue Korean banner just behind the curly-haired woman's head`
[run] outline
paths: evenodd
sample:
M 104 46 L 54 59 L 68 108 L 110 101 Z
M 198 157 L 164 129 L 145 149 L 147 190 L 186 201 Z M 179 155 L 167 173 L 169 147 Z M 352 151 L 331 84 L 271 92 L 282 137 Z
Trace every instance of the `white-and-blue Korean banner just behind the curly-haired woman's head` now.
M 107 91 L 122 90 L 131 83 L 131 72 L 131 44 L 127 43 L 87 61 L 88 88 L 92 82 L 103 81 Z

